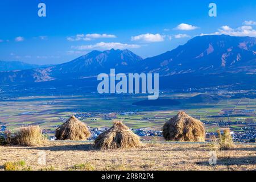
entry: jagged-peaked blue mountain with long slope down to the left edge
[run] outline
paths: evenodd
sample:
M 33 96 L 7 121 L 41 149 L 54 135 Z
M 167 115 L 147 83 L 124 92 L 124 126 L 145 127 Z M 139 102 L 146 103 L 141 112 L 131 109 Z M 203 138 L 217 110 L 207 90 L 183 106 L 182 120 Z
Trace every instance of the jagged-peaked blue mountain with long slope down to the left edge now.
M 0 72 L 0 83 L 72 80 L 110 73 L 111 68 L 115 68 L 117 72 L 127 73 L 138 68 L 142 60 L 141 57 L 127 49 L 92 51 L 68 63 L 47 68 Z

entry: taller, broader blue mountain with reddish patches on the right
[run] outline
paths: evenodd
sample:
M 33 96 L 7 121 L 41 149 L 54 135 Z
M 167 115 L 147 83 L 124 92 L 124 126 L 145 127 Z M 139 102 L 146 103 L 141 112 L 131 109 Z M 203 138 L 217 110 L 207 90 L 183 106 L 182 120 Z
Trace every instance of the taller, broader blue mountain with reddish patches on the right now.
M 172 51 L 147 58 L 143 67 L 146 71 L 170 76 L 193 72 L 221 72 L 228 69 L 234 71 L 234 68 L 250 67 L 251 60 L 254 59 L 256 38 L 208 35 L 197 36 Z M 252 63 L 255 68 L 255 60 Z

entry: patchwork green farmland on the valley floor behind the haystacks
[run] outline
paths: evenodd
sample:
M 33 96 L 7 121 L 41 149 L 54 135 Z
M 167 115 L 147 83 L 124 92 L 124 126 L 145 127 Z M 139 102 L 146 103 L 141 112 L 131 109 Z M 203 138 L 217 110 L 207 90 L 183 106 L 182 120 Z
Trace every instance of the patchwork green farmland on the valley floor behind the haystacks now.
M 207 123 L 207 131 L 218 129 L 216 121 L 223 122 L 256 122 L 256 99 L 221 100 L 219 102 L 193 104 L 184 102 L 195 94 L 175 93 L 164 94 L 161 98 L 178 99 L 176 106 L 134 106 L 133 102 L 146 100 L 146 96 L 133 97 L 101 97 L 97 94 L 85 96 L 34 96 L 17 97 L 14 100 L 0 101 L 0 122 L 6 123 L 7 129 L 15 131 L 25 125 L 40 125 L 47 131 L 54 131 L 67 117 L 72 114 L 89 113 L 92 117 L 81 117 L 81 121 L 90 127 L 109 127 L 112 119 L 104 115 L 115 114 L 115 119 L 123 119 L 127 126 L 138 128 L 160 129 L 163 123 L 184 110 L 187 114 Z M 122 114 L 135 112 L 135 114 Z M 228 115 L 223 116 L 224 113 Z M 242 116 L 246 113 L 246 116 Z M 222 115 L 222 117 L 216 117 Z M 215 116 L 215 117 L 213 117 Z M 234 130 L 239 126 L 230 125 Z

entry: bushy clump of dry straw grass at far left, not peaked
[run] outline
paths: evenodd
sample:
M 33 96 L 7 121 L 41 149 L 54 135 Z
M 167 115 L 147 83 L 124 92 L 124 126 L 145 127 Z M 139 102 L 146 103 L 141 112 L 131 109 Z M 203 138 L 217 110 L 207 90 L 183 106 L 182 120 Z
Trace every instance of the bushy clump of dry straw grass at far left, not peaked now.
M 7 143 L 22 146 L 38 146 L 46 142 L 39 126 L 22 127 L 14 135 L 7 133 Z

